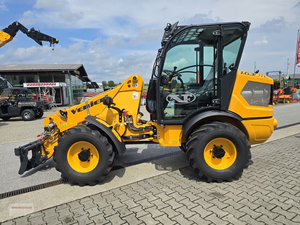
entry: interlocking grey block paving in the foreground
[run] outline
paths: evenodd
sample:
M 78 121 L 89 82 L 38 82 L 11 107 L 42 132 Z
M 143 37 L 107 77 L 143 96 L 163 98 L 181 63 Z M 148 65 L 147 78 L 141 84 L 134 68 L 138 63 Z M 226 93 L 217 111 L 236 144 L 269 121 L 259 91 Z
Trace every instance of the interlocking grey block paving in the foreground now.
M 183 167 L 1 225 L 299 224 L 299 142 L 297 134 L 253 147 L 248 169 L 233 182 L 207 183 Z

